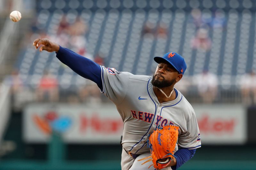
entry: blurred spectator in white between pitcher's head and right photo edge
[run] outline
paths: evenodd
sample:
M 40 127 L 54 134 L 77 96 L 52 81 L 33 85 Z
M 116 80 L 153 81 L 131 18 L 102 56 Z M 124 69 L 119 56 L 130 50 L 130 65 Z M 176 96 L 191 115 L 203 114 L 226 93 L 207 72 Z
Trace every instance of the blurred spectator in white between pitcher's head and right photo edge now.
M 215 74 L 204 69 L 203 73 L 195 76 L 197 90 L 204 103 L 212 103 L 217 96 L 218 78 Z

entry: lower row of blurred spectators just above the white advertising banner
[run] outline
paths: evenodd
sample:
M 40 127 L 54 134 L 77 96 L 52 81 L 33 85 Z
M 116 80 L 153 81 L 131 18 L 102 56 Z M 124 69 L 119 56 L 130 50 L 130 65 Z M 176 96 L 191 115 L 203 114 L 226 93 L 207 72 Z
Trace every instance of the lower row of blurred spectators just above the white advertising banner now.
M 28 102 L 65 102 L 90 105 L 109 102 L 94 82 L 87 80 L 84 85 L 62 89 L 58 79 L 48 71 L 44 72 L 44 76 L 40 79 L 36 88 L 22 82 L 17 71 L 13 71 L 12 75 L 7 77 L 6 82 L 12 87 L 13 108 L 17 110 Z M 175 85 L 175 88 L 182 92 L 191 103 L 211 104 L 221 103 L 220 97 L 218 97 L 220 93 L 219 86 L 218 77 L 205 69 L 201 74 L 193 77 L 184 76 Z M 240 96 L 240 101 L 244 105 L 256 104 L 255 72 L 249 72 L 241 78 L 240 88 L 237 91 L 240 93 L 238 96 Z

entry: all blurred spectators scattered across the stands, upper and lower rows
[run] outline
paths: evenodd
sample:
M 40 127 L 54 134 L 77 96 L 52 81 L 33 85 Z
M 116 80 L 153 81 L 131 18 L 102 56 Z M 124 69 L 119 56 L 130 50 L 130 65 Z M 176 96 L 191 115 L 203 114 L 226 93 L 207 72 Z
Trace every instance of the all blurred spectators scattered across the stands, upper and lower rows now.
M 208 30 L 212 29 L 212 27 L 225 30 L 226 26 L 225 15 L 218 10 L 211 16 L 205 16 L 199 9 L 193 9 L 189 22 L 194 23 L 196 26 L 195 36 L 191 39 L 190 48 L 204 51 L 209 51 L 211 49 L 212 42 Z M 47 35 L 43 29 L 38 29 L 36 25 L 37 23 L 35 21 L 31 26 L 31 33 L 28 35 L 30 36 L 31 41 L 38 35 L 39 38 L 49 38 L 82 56 L 92 59 L 100 65 L 104 65 L 104 54 L 98 53 L 96 56 L 92 56 L 86 50 L 88 42 L 85 35 L 88 32 L 89 27 L 83 19 L 77 17 L 74 21 L 69 21 L 68 18 L 63 16 L 55 35 Z M 153 38 L 166 38 L 170 31 L 169 26 L 164 23 L 155 25 L 146 22 L 141 31 L 141 38 L 148 35 L 153 35 L 150 36 Z M 14 103 L 16 103 L 15 105 L 17 105 L 16 108 L 31 101 L 68 103 L 100 103 L 106 101 L 104 95 L 101 95 L 100 90 L 95 83 L 86 81 L 82 86 L 63 90 L 60 88 L 60 82 L 56 76 L 51 75 L 51 72 L 46 70 L 34 89 L 31 89 L 29 85 L 22 82 L 21 78 L 19 78 L 18 70 L 13 71 L 12 75 L 7 78 L 7 82 L 12 86 L 12 98 Z M 196 95 L 193 95 L 195 98 L 199 98 L 197 101 L 213 103 L 220 102 L 218 99 L 218 86 L 219 79 L 217 75 L 210 73 L 208 69 L 205 68 L 201 74 L 189 78 L 184 76 L 184 78 L 182 78 L 176 85 L 176 88 L 180 90 L 185 97 L 187 97 L 191 89 L 196 89 Z M 256 75 L 253 71 L 248 75 L 243 76 L 240 87 L 241 99 L 244 104 L 256 104 Z

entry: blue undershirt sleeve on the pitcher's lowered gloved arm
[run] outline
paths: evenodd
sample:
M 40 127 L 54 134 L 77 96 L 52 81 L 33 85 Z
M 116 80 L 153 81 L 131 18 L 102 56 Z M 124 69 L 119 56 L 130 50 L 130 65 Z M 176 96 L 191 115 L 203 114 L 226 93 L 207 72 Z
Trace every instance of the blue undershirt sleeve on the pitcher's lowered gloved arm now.
M 178 151 L 174 153 L 176 158 L 176 165 L 171 166 L 173 170 L 178 169 L 181 165 L 183 165 L 185 162 L 187 162 L 189 159 L 191 159 L 194 154 L 196 153 L 196 149 L 186 149 L 186 148 L 180 148 Z

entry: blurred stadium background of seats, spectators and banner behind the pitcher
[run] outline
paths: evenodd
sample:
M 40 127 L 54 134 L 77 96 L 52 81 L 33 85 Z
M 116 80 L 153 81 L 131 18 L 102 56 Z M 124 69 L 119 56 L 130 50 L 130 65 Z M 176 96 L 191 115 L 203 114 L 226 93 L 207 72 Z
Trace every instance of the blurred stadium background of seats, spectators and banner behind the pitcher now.
M 178 52 L 176 88 L 202 141 L 180 169 L 256 169 L 255 11 L 254 0 L 0 0 L 0 169 L 121 169 L 116 107 L 36 38 L 150 76 L 154 56 Z

